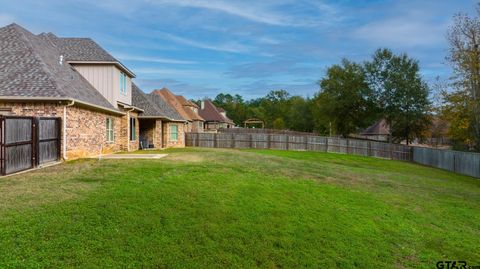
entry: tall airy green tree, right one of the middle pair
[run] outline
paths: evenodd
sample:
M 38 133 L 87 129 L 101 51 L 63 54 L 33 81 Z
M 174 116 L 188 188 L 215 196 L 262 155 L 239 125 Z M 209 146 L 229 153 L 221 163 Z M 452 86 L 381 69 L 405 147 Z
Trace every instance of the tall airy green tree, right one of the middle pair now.
M 390 125 L 392 138 L 407 144 L 422 138 L 430 124 L 429 88 L 420 76 L 418 62 L 406 54 L 378 49 L 365 63 L 366 80 L 381 114 Z

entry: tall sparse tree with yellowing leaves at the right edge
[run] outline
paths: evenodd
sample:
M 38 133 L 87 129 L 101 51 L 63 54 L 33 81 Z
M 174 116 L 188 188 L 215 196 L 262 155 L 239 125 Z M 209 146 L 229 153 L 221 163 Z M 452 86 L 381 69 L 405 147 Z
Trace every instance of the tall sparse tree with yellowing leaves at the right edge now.
M 460 102 L 459 109 L 471 111 L 468 137 L 474 149 L 480 151 L 480 4 L 477 4 L 476 11 L 477 16 L 473 18 L 464 14 L 454 17 L 454 24 L 447 34 L 450 44 L 447 60 L 455 72 L 454 84 L 460 87 L 455 97 L 466 98 Z

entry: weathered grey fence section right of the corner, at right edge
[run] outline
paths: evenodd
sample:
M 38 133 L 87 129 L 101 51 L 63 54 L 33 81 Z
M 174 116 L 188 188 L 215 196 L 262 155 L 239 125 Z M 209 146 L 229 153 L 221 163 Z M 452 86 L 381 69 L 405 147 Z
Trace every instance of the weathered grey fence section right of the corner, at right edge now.
M 480 178 L 479 153 L 415 147 L 413 148 L 413 161 Z

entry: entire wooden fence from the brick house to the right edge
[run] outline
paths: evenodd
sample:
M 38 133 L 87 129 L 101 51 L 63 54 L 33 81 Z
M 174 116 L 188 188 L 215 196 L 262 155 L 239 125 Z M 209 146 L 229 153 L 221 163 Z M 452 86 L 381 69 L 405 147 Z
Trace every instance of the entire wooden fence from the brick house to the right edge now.
M 186 145 L 190 147 L 307 150 L 356 154 L 392 160 L 412 161 L 458 174 L 480 178 L 479 153 L 410 147 L 386 142 L 312 135 L 186 133 L 185 136 Z

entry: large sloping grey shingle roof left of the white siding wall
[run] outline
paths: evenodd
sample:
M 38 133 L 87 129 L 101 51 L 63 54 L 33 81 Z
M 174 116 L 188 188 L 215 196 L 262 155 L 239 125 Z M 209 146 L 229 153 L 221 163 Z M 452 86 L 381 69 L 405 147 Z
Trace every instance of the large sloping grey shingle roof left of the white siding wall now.
M 75 99 L 116 110 L 45 36 L 17 24 L 0 28 L 0 96 Z

